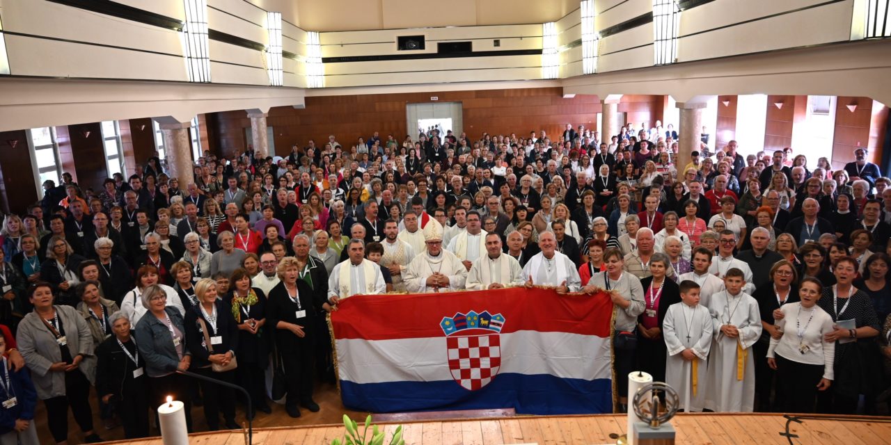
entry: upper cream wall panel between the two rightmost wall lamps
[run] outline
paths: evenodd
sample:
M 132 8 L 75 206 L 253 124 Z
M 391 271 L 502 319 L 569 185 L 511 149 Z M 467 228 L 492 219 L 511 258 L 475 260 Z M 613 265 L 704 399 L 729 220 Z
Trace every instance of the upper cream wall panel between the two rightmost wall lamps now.
M 768 15 L 793 11 L 826 0 L 716 0 L 703 4 L 681 14 L 680 36 L 697 33 L 706 29 L 722 28 L 742 21 L 758 19 Z M 846 4 L 853 0 L 847 0 Z M 848 6 L 852 7 L 852 6 Z M 840 18 L 838 20 L 841 20 Z

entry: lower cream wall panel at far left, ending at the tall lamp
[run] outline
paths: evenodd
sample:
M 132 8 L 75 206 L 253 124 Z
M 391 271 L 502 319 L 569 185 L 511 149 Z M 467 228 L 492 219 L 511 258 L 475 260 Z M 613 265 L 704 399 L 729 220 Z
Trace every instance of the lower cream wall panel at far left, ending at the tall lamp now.
M 181 57 L 25 36 L 6 36 L 16 76 L 188 81 Z

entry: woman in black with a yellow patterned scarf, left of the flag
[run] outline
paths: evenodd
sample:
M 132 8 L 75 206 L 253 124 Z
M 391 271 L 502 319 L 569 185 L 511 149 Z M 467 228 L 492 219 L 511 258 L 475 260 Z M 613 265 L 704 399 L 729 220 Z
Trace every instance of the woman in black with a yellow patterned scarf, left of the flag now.
M 238 384 L 250 394 L 253 409 L 272 413 L 266 403 L 266 367 L 269 362 L 269 342 L 266 328 L 266 295 L 251 286 L 250 274 L 236 269 L 229 280 L 230 291 L 225 301 L 238 326 Z M 254 410 L 249 409 L 252 416 Z

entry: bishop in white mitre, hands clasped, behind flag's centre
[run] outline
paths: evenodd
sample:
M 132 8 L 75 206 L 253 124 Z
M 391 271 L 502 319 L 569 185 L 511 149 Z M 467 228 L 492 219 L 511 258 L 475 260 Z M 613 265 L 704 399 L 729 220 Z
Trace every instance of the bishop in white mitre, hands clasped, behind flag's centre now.
M 414 256 L 405 270 L 405 290 L 412 293 L 461 290 L 467 269 L 461 259 L 443 248 L 443 226 L 430 220 L 424 227 L 426 252 Z

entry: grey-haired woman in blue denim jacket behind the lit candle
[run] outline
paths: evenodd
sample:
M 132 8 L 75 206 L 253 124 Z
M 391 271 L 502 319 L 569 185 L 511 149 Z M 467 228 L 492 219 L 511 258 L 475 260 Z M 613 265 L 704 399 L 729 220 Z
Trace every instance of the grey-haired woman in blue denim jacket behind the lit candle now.
M 176 371 L 189 370 L 192 352 L 186 348 L 183 314 L 169 305 L 170 298 L 167 290 L 156 284 L 143 289 L 139 300 L 145 316 L 136 322 L 135 337 L 139 339 L 136 347 L 145 360 L 145 374 L 149 376 L 149 406 L 159 406 L 168 396 L 182 401 L 185 405 L 186 428 L 191 431 L 192 400 L 189 381 L 187 377 L 176 374 Z

